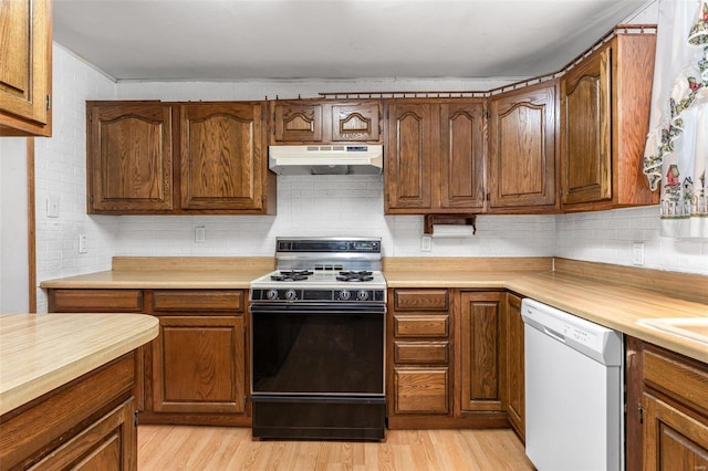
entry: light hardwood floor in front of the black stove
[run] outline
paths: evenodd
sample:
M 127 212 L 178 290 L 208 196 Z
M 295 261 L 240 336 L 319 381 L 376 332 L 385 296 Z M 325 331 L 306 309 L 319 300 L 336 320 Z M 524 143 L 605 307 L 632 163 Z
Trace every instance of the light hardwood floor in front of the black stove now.
M 139 426 L 138 470 L 533 470 L 511 430 L 388 430 L 384 442 L 258 441 L 249 428 Z

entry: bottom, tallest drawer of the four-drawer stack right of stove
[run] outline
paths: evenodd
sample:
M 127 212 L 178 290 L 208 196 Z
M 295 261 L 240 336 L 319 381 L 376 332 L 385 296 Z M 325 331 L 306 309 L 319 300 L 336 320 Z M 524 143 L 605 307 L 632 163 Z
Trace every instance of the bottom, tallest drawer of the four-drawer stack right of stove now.
M 396 414 L 448 414 L 448 369 L 397 368 L 394 394 Z

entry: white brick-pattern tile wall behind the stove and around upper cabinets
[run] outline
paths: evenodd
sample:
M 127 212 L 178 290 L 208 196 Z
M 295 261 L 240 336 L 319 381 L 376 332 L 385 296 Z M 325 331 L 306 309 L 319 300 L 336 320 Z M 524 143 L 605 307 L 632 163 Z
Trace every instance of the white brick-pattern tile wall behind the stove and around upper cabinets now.
M 86 100 L 261 100 L 348 90 L 488 90 L 509 80 L 264 83 L 115 83 L 54 45 L 53 137 L 37 139 L 38 281 L 107 270 L 114 255 L 271 255 L 277 236 L 378 236 L 386 257 L 548 257 L 708 274 L 708 241 L 659 236 L 658 208 L 560 216 L 480 216 L 477 236 L 434 239 L 420 250 L 423 217 L 384 216 L 383 177 L 278 177 L 278 216 L 87 216 Z M 46 199 L 59 198 L 59 218 Z M 206 241 L 195 242 L 204 226 Z M 87 253 L 79 253 L 79 236 Z M 38 310 L 46 310 L 38 291 Z

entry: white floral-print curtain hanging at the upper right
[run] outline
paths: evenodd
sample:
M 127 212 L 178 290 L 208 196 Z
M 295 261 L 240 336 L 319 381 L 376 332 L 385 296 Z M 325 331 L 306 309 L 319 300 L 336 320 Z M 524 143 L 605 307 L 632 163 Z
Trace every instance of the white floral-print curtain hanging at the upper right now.
M 659 0 L 644 172 L 662 236 L 708 238 L 708 0 Z

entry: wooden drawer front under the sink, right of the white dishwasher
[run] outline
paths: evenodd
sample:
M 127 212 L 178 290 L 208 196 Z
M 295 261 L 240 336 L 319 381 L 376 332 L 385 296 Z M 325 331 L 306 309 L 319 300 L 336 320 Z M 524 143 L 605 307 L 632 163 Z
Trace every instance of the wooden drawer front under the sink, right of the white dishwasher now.
M 699 411 L 708 410 L 708 369 L 669 353 L 644 350 L 644 380 Z

